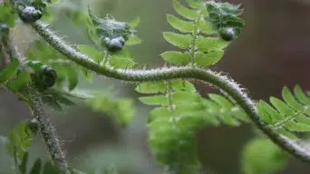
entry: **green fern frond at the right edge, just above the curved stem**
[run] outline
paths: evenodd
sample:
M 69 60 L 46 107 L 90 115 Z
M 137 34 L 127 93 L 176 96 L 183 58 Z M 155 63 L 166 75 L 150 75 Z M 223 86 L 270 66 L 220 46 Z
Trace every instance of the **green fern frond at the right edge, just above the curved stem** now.
M 310 97 L 296 85 L 294 94 L 284 87 L 283 101 L 270 97 L 272 105 L 264 101 L 257 104 L 259 116 L 275 131 L 296 139 L 294 132 L 310 131 Z

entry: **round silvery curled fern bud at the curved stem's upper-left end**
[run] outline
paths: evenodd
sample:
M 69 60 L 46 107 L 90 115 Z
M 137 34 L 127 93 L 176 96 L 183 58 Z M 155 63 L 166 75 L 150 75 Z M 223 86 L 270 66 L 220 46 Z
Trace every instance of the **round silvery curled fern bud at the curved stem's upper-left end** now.
M 19 17 L 24 23 L 34 23 L 42 17 L 42 12 L 34 8 L 34 6 L 25 6 L 19 10 Z

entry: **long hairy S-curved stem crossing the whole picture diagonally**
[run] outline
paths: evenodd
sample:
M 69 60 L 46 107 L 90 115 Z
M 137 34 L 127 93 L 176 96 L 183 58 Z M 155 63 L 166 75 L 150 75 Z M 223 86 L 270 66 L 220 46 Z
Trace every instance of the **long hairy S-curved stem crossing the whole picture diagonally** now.
M 247 112 L 248 117 L 257 125 L 257 128 L 263 131 L 266 136 L 273 140 L 279 147 L 286 150 L 299 160 L 310 162 L 310 153 L 295 144 L 294 141 L 288 140 L 271 130 L 266 123 L 259 118 L 255 108 L 255 103 L 247 97 L 245 92 L 242 92 L 236 82 L 233 82 L 225 76 L 221 76 L 218 73 L 208 70 L 191 68 L 188 66 L 153 70 L 121 70 L 114 69 L 110 66 L 100 66 L 99 64 L 93 62 L 87 55 L 76 51 L 73 47 L 64 43 L 59 36 L 54 34 L 54 32 L 47 27 L 47 25 L 36 22 L 32 24 L 32 26 L 46 42 L 50 43 L 58 52 L 63 53 L 63 55 L 65 55 L 68 59 L 89 70 L 92 70 L 95 73 L 99 73 L 107 77 L 130 82 L 189 78 L 211 83 L 224 92 L 227 92 L 228 95 L 230 95 L 237 102 L 237 104 Z

